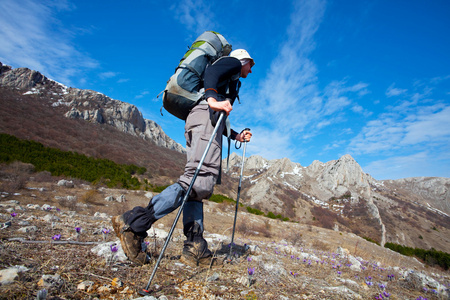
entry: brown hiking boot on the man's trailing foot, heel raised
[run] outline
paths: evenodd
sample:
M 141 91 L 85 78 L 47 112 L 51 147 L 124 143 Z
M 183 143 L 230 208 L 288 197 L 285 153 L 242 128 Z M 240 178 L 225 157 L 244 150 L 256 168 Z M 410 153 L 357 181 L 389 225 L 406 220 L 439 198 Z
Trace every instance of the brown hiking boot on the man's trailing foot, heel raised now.
M 131 231 L 129 225 L 125 223 L 123 216 L 115 216 L 111 219 L 114 232 L 120 239 L 125 255 L 132 262 L 143 265 L 150 261 L 150 257 L 142 250 L 144 238 Z

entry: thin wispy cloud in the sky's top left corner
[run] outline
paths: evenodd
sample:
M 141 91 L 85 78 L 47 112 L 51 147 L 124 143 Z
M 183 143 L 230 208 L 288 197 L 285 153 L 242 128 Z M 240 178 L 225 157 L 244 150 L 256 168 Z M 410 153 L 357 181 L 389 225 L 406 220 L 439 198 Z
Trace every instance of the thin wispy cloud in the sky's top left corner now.
M 39 70 L 64 84 L 79 69 L 96 67 L 72 44 L 71 34 L 59 29 L 54 13 L 71 9 L 67 1 L 2 0 L 0 61 Z

